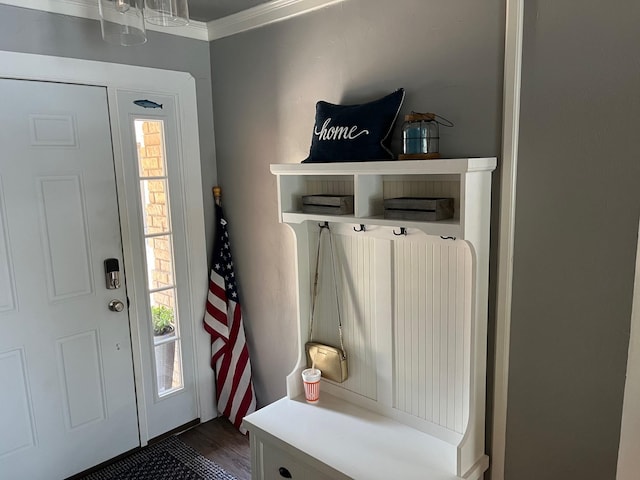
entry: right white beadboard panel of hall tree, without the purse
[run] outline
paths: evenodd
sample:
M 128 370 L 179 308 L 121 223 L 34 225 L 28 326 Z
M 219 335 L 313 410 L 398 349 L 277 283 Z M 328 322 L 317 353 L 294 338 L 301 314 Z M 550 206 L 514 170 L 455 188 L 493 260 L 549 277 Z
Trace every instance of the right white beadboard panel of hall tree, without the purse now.
M 466 243 L 396 242 L 394 408 L 464 433 L 472 259 Z

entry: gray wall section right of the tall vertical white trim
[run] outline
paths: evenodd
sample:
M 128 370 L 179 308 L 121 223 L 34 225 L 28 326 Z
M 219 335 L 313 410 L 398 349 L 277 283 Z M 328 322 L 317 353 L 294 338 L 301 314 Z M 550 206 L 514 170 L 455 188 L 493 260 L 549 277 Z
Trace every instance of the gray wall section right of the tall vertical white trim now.
M 640 208 L 640 4 L 527 0 L 506 478 L 613 480 Z

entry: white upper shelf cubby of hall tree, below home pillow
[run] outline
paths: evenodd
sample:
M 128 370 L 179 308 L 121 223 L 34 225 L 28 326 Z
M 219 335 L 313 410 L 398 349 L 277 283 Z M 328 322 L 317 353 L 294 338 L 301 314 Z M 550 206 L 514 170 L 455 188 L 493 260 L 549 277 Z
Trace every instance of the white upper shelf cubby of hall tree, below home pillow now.
M 465 238 L 466 212 L 479 204 L 495 158 L 455 158 L 383 162 L 272 164 L 278 182 L 280 221 L 307 220 L 417 228 L 431 235 Z M 353 195 L 348 215 L 303 213 L 304 195 Z M 451 197 L 454 216 L 433 222 L 384 218 L 384 200 L 398 197 Z

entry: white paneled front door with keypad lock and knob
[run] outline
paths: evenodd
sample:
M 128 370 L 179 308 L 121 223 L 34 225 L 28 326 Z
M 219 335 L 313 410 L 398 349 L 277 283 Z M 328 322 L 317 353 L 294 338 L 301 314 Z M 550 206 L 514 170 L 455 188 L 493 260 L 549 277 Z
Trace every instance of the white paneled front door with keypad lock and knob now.
M 0 79 L 0 105 L 0 477 L 59 479 L 140 445 L 107 95 Z

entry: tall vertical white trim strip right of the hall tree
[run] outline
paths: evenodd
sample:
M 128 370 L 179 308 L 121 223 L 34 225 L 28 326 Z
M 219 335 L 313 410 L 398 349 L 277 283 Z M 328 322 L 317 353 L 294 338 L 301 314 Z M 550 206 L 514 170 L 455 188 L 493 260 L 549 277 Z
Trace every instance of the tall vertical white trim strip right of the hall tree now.
M 524 0 L 507 0 L 491 478 L 504 479 Z

